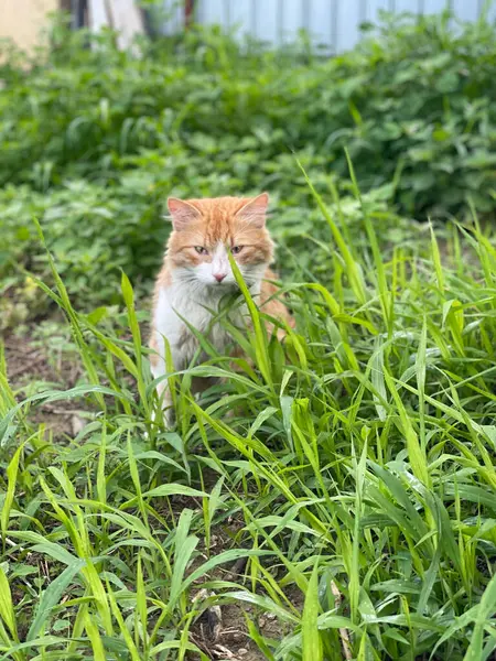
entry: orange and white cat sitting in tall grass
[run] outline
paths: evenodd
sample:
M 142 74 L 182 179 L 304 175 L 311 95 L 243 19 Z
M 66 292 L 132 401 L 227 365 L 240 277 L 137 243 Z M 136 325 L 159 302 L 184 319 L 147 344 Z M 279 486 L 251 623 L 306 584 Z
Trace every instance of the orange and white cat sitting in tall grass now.
M 175 370 L 185 369 L 198 342 L 184 322 L 202 334 L 219 353 L 233 344 L 220 323 L 213 323 L 212 311 L 220 300 L 237 290 L 228 250 L 260 310 L 278 318 L 282 325 L 294 326 L 285 305 L 274 295 L 278 288 L 269 266 L 273 259 L 273 242 L 266 227 L 269 196 L 216 197 L 203 199 L 168 199 L 172 219 L 162 269 L 157 278 L 153 297 L 152 333 L 150 339 L 153 377 L 163 376 L 166 338 Z M 235 314 L 244 315 L 242 307 Z M 246 314 L 246 307 L 245 307 Z M 231 319 L 233 321 L 233 319 Z M 267 324 L 269 333 L 271 324 Z M 277 330 L 279 338 L 285 334 Z M 172 421 L 172 400 L 164 379 L 158 387 L 168 423 Z

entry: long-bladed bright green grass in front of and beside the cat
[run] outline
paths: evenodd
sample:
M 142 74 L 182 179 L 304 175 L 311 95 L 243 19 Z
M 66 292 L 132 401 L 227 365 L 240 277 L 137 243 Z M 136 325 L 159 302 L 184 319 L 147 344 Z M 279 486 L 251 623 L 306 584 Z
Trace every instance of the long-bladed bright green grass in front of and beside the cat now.
M 279 640 L 248 626 L 267 659 L 343 659 L 343 629 L 359 660 L 493 658 L 496 251 L 476 219 L 391 245 L 352 181 L 359 220 L 315 193 L 327 236 L 301 242 L 330 286 L 294 267 L 296 329 L 241 336 L 255 370 L 211 351 L 180 376 L 174 431 L 152 422 L 127 278 L 123 336 L 48 259 L 86 377 L 15 403 L 0 361 L 1 659 L 184 659 L 213 602 L 277 616 Z M 194 375 L 227 383 L 195 401 Z M 76 437 L 31 422 L 74 398 L 93 412 Z

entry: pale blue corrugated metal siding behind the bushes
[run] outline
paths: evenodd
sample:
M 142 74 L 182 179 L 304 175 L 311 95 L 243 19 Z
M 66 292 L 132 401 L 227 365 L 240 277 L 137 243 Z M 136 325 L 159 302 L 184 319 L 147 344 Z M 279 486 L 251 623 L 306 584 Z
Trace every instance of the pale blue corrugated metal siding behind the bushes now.
M 448 0 L 460 19 L 476 20 L 484 0 Z M 184 24 L 183 3 L 164 0 L 170 19 L 164 32 L 181 30 Z M 309 32 L 314 44 L 333 52 L 352 48 L 360 37 L 359 25 L 375 22 L 380 10 L 439 13 L 446 0 L 196 0 L 196 20 L 204 24 L 238 28 L 240 35 L 281 44 L 294 41 L 299 30 Z M 496 19 L 496 2 L 490 9 Z

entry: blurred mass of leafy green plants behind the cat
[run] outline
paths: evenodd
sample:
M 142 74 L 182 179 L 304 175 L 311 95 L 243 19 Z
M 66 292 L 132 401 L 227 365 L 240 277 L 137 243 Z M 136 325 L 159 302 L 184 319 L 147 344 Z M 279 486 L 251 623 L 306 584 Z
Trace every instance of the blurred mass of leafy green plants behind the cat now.
M 411 215 L 463 217 L 470 202 L 490 216 L 495 43 L 485 20 L 455 30 L 446 14 L 385 18 L 378 36 L 334 58 L 246 48 L 200 28 L 144 41 L 136 58 L 111 33 L 56 25 L 31 68 L 15 53 L 2 65 L 0 274 L 19 293 L 19 266 L 46 275 L 34 214 L 76 302 L 90 308 L 98 292 L 96 304 L 114 303 L 119 269 L 138 292 L 149 286 L 166 195 L 268 189 L 281 250 L 322 278 L 327 269 L 299 248 L 305 235 L 322 241 L 325 224 L 291 152 L 320 194 L 339 191 L 353 224 L 362 212 L 346 147 L 393 241 L 409 236 Z M 26 314 L 8 307 L 6 319 Z

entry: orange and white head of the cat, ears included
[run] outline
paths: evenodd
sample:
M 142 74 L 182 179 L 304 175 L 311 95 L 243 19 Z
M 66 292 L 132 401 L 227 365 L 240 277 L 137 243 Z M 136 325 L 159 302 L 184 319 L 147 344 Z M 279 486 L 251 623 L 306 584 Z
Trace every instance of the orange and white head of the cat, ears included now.
M 168 259 L 174 278 L 226 290 L 236 285 L 228 252 L 248 286 L 259 283 L 272 260 L 266 229 L 267 193 L 255 198 L 169 198 L 173 231 Z

